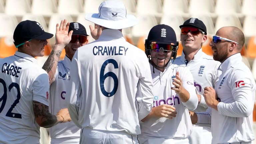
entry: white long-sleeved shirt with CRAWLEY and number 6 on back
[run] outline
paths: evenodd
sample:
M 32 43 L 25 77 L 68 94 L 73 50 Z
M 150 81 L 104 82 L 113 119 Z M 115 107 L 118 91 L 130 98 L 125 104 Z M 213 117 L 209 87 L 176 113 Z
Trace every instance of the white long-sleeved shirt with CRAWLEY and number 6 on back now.
M 71 65 L 66 98 L 72 121 L 82 128 L 140 134 L 139 121 L 153 104 L 145 53 L 119 30 L 104 29 L 98 40 L 78 48 Z

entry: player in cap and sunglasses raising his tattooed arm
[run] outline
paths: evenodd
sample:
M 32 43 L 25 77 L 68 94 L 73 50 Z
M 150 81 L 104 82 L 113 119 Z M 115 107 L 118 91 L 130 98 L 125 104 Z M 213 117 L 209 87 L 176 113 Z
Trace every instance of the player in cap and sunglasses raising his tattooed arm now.
M 71 60 L 78 47 L 88 43 L 85 27 L 80 23 L 71 22 L 68 32 L 73 31 L 70 42 L 65 46 L 65 58 L 58 62 L 63 46 L 53 47 L 51 54 L 46 60 L 43 69 L 49 75 L 49 110 L 56 114 L 60 109 L 66 108 L 65 101 L 67 83 L 70 80 Z M 80 128 L 72 121 L 55 125 L 50 128 L 51 144 L 78 144 L 80 140 Z

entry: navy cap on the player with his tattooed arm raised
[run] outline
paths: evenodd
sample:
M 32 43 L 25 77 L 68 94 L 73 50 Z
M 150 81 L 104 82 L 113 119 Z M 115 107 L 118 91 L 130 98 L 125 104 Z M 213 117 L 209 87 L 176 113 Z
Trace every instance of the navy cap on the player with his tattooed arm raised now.
M 68 32 L 70 32 L 71 30 L 73 30 L 72 35 L 84 35 L 84 36 L 89 36 L 86 33 L 86 29 L 85 27 L 80 24 L 80 23 L 75 23 L 75 22 L 71 22 L 69 23 L 69 29 Z

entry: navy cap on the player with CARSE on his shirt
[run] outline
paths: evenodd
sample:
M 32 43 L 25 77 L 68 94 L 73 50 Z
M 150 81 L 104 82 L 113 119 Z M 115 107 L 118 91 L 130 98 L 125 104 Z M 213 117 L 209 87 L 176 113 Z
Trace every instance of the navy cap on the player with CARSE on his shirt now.
M 53 37 L 53 34 L 45 32 L 38 22 L 30 20 L 20 22 L 13 33 L 14 45 L 16 47 L 30 39 L 47 40 L 51 37 Z

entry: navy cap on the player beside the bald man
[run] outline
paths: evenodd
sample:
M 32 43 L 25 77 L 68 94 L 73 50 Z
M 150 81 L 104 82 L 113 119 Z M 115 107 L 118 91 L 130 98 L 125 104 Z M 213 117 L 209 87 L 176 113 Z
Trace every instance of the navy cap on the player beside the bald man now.
M 205 24 L 198 18 L 190 18 L 190 19 L 186 20 L 183 23 L 183 25 L 180 25 L 180 28 L 182 28 L 182 27 L 196 27 L 196 28 L 199 28 L 200 30 L 202 30 L 205 33 L 205 35 L 207 34 Z

